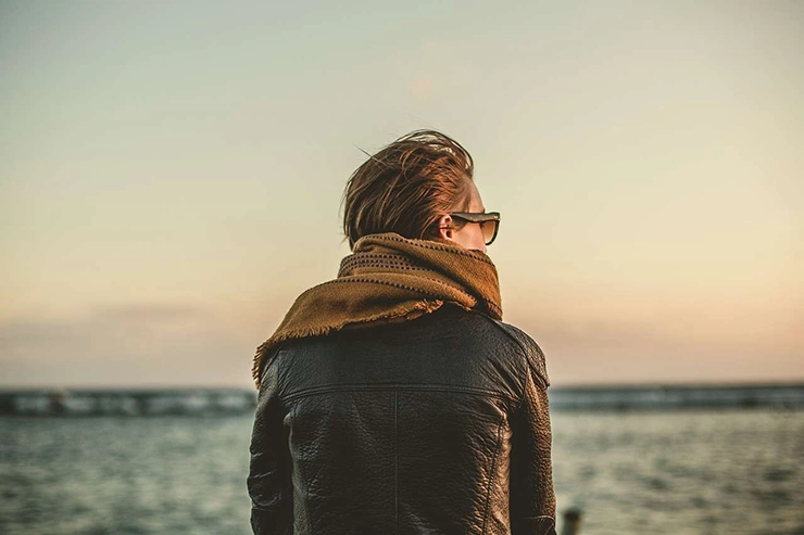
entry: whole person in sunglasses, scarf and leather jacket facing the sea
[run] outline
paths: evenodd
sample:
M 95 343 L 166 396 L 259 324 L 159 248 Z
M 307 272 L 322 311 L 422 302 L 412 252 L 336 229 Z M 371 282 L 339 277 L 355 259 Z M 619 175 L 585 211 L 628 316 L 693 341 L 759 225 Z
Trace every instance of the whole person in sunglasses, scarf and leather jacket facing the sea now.
M 555 534 L 544 354 L 502 321 L 473 170 L 418 130 L 349 179 L 352 253 L 254 357 L 255 534 Z

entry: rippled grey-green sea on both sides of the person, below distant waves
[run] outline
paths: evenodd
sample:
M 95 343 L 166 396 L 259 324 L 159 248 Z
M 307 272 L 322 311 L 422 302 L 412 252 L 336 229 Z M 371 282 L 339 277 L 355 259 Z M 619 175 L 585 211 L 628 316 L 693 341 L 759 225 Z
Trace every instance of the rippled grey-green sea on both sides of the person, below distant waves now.
M 0 533 L 250 534 L 252 420 L 0 418 Z M 804 412 L 554 412 L 583 535 L 804 535 Z

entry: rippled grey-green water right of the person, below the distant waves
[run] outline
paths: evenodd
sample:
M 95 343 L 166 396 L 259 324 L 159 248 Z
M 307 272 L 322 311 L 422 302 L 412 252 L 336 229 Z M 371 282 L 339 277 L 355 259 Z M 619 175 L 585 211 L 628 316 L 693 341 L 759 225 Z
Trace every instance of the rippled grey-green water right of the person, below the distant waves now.
M 553 415 L 583 534 L 804 535 L 804 412 Z

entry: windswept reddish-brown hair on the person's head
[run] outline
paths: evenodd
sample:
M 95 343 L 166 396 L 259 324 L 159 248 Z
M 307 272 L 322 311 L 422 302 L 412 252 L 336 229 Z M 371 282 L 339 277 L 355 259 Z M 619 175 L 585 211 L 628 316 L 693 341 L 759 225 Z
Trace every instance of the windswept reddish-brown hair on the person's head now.
M 349 178 L 343 232 L 350 249 L 379 232 L 435 238 L 441 215 L 468 209 L 473 171 L 469 153 L 441 132 L 417 130 L 393 141 Z

